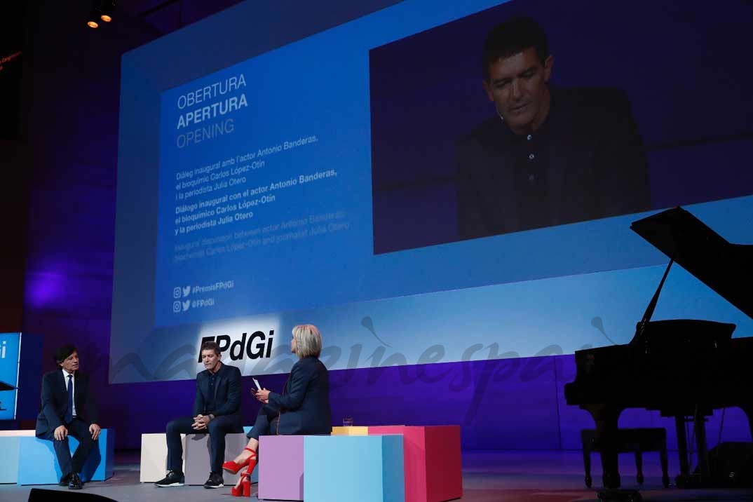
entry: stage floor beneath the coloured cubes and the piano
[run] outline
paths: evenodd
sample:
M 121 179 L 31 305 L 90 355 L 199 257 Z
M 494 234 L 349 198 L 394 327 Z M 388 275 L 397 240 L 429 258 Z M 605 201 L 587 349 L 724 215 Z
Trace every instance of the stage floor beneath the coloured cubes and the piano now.
M 674 455 L 672 455 L 674 453 Z M 655 458 L 656 457 L 656 458 Z M 584 486 L 583 455 L 565 451 L 468 451 L 463 452 L 463 492 L 466 502 L 569 502 L 570 500 L 597 500 L 596 492 Z M 332 466 L 337 469 L 337 465 Z M 676 453 L 670 453 L 669 472 L 678 472 Z M 595 473 L 599 475 L 594 476 Z M 600 482 L 601 466 L 594 455 L 592 476 Z M 661 488 L 661 470 L 658 455 L 645 455 L 644 500 L 680 502 L 684 500 L 753 500 L 753 490 L 681 490 Z M 636 467 L 632 455 L 620 455 L 620 474 L 626 488 L 635 488 Z M 225 482 L 235 481 L 226 476 Z M 0 485 L 0 500 L 26 502 L 32 486 Z M 38 486 L 69 492 L 67 488 Z M 252 494 L 257 493 L 257 485 Z M 107 482 L 92 482 L 82 493 L 110 497 L 118 502 L 159 500 L 160 502 L 193 502 L 194 500 L 231 500 L 230 488 L 206 490 L 201 486 L 157 488 L 151 483 L 139 482 L 139 452 L 117 452 L 115 474 Z M 252 500 L 258 500 L 252 496 Z M 354 500 L 353 502 L 357 502 Z

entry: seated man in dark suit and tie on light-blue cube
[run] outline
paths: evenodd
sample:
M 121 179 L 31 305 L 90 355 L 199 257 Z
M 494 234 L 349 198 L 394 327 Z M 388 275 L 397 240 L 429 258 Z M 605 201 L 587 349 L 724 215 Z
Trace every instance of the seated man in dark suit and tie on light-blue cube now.
M 80 490 L 81 468 L 96 449 L 99 437 L 96 403 L 89 387 L 89 379 L 78 373 L 78 351 L 73 345 L 63 345 L 55 353 L 57 370 L 42 377 L 42 409 L 37 416 L 36 435 L 53 442 L 62 477 L 60 485 Z M 73 458 L 68 437 L 78 440 Z

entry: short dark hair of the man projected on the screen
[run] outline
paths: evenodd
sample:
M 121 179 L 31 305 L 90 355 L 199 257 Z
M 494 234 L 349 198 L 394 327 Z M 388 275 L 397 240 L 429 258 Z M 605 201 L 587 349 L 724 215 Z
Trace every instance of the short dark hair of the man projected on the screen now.
M 483 79 L 489 80 L 489 66 L 493 62 L 514 56 L 529 47 L 535 48 L 543 65 L 549 57 L 547 34 L 532 17 L 511 17 L 492 28 L 483 44 Z

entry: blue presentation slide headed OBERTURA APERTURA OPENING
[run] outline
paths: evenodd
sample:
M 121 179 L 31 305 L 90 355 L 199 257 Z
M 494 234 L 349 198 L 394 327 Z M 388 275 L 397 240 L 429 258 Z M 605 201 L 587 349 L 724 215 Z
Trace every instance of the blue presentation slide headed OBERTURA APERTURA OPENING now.
M 364 61 L 322 68 L 327 44 L 163 94 L 157 325 L 307 306 L 310 288 L 325 304 L 357 299 L 371 254 Z M 303 88 L 285 77 L 291 59 Z

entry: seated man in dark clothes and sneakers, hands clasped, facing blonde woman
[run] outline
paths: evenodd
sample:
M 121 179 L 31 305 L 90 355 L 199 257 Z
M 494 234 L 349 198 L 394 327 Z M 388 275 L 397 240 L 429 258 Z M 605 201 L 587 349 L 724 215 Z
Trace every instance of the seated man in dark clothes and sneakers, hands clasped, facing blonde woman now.
M 204 488 L 221 488 L 225 434 L 243 432 L 240 416 L 240 370 L 222 364 L 217 342 L 201 345 L 206 370 L 196 376 L 194 416 L 177 418 L 167 424 L 167 476 L 157 486 L 182 486 L 184 476 L 181 434 L 209 433 L 209 479 Z

